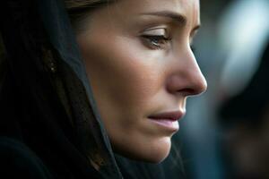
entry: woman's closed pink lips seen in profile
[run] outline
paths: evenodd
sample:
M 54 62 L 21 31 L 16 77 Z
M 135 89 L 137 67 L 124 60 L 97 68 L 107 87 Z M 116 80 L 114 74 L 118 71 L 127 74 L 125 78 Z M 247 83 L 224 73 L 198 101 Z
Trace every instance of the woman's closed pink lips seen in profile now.
M 156 115 L 150 115 L 148 118 L 155 124 L 169 129 L 170 131 L 177 132 L 179 129 L 178 120 L 185 115 L 182 111 L 165 112 Z

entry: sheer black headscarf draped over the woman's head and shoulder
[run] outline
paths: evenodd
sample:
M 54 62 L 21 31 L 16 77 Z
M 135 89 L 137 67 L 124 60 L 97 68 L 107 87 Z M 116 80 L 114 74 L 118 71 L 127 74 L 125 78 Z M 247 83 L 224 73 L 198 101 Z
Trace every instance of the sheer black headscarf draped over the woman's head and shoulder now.
M 165 178 L 162 165 L 116 161 L 63 2 L 4 0 L 0 12 L 0 164 L 6 175 Z

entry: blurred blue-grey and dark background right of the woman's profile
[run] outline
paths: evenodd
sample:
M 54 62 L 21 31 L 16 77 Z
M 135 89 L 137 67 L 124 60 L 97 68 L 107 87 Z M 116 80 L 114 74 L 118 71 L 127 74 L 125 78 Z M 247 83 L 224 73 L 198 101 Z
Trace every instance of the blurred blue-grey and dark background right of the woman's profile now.
M 180 121 L 187 178 L 269 179 L 269 0 L 200 3 L 194 47 L 208 90 Z

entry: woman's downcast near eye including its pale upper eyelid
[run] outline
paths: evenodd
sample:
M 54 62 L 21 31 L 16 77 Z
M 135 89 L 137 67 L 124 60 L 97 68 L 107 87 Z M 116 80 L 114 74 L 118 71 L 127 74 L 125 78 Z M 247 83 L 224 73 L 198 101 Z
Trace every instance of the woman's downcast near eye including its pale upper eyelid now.
M 145 45 L 152 49 L 165 49 L 171 40 L 164 29 L 149 30 L 141 37 Z

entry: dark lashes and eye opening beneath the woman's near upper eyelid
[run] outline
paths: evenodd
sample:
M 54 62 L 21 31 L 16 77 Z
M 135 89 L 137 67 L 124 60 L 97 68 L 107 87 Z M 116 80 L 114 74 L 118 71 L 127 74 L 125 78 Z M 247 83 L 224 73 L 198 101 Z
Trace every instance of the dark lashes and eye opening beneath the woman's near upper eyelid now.
M 154 49 L 163 48 L 169 43 L 171 38 L 167 38 L 164 35 L 142 35 Z

